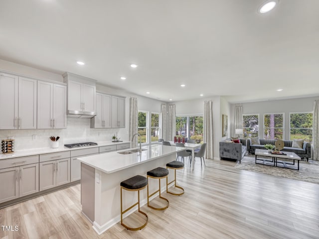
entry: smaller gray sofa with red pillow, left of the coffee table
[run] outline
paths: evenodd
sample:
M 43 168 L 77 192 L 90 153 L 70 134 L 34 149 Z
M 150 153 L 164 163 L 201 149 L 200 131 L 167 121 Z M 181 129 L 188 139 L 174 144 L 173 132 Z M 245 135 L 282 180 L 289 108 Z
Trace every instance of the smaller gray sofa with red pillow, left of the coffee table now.
M 226 139 L 230 140 L 230 139 Z M 230 158 L 230 159 L 236 159 L 239 160 L 239 163 L 241 163 L 241 160 L 245 156 L 246 153 L 246 146 L 243 145 L 246 143 L 245 139 L 240 139 L 240 143 L 228 143 L 224 141 L 219 142 L 219 157 L 220 160 L 223 158 Z

